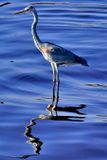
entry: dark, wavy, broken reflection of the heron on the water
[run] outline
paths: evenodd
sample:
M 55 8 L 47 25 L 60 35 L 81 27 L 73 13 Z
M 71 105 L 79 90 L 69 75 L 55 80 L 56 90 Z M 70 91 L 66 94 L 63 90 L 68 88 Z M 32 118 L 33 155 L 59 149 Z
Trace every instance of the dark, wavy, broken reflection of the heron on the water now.
M 80 106 L 78 107 L 58 107 L 58 110 L 59 111 L 63 111 L 63 112 L 73 112 L 73 113 L 76 113 L 78 114 L 77 116 L 63 116 L 63 115 L 39 115 L 38 118 L 34 118 L 30 121 L 30 123 L 26 126 L 26 129 L 25 129 L 25 133 L 24 135 L 28 138 L 27 140 L 27 143 L 29 144 L 32 144 L 33 148 L 34 148 L 34 153 L 35 155 L 39 155 L 40 154 L 40 151 L 42 149 L 42 145 L 43 145 L 43 142 L 33 136 L 32 134 L 32 129 L 35 125 L 37 125 L 37 123 L 39 124 L 39 121 L 40 120 L 54 120 L 54 121 L 71 121 L 71 122 L 83 122 L 84 119 L 85 119 L 85 113 L 82 113 L 80 112 L 81 109 L 85 108 L 86 105 L 84 104 L 81 104 Z M 29 155 L 30 157 L 31 156 L 34 156 L 34 155 Z M 29 156 L 27 156 L 26 158 L 28 158 Z M 23 156 L 24 158 L 25 156 Z

